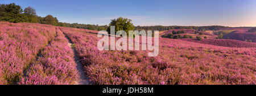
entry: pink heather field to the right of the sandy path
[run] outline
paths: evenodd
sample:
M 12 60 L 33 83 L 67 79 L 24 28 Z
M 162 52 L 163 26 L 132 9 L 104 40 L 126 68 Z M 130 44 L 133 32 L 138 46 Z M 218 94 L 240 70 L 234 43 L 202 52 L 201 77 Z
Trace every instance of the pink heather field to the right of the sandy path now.
M 159 38 L 148 51 L 99 51 L 96 34 L 61 28 L 94 84 L 255 84 L 256 48 L 232 48 Z

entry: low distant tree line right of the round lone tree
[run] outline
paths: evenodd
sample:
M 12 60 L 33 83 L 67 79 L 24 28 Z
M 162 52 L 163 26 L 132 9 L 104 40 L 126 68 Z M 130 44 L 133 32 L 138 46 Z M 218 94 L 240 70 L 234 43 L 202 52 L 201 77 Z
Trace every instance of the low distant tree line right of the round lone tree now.
M 218 25 L 213 25 L 213 26 L 203 26 L 203 27 L 195 27 L 195 26 L 162 26 L 162 25 L 155 25 L 155 26 L 137 26 L 135 27 L 136 30 L 170 30 L 170 29 L 195 29 L 195 30 L 200 30 L 200 31 L 205 31 L 205 30 L 218 30 L 220 28 L 225 28 L 224 26 L 218 26 Z

